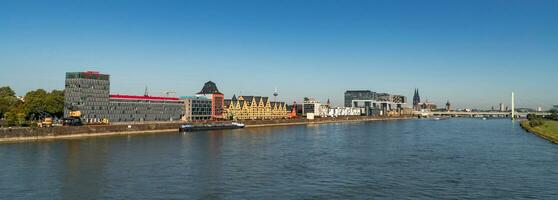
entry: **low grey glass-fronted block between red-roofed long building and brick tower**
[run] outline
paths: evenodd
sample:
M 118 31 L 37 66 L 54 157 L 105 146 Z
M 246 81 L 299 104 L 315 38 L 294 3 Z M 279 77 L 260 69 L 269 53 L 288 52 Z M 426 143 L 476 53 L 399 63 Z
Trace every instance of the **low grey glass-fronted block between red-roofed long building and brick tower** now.
M 184 121 L 207 121 L 211 120 L 212 102 L 204 96 L 184 96 L 180 97 L 184 101 Z

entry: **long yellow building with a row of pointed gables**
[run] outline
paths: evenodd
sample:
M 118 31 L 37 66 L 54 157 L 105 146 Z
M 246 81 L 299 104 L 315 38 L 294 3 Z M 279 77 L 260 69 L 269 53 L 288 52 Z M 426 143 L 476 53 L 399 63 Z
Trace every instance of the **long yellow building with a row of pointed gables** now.
M 233 95 L 225 99 L 224 116 L 227 119 L 261 120 L 284 119 L 289 117 L 287 105 L 284 102 L 272 102 L 269 97 Z

